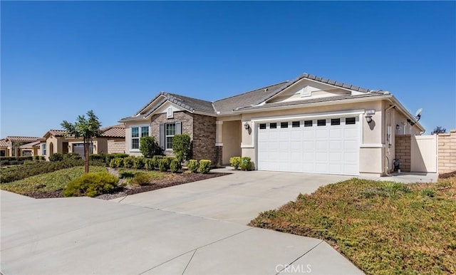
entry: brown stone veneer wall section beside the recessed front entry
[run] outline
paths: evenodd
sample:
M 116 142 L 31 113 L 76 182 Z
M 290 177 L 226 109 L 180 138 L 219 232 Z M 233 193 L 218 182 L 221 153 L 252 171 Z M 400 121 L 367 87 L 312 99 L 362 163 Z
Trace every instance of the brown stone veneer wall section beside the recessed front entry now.
M 217 164 L 216 120 L 217 118 L 208 115 L 193 115 L 193 158 L 211 160 L 212 165 Z

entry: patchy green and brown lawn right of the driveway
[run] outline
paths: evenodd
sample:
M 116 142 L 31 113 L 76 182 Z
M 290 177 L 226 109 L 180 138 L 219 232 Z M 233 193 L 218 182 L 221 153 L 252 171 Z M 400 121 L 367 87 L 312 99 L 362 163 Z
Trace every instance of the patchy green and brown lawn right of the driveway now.
M 415 185 L 338 182 L 299 194 L 250 225 L 325 239 L 366 274 L 456 273 L 456 177 Z

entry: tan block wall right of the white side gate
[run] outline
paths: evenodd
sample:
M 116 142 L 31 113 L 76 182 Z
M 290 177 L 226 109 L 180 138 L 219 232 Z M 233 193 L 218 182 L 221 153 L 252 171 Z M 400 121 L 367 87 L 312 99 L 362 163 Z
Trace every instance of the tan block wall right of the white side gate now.
M 438 134 L 439 174 L 456 171 L 456 130 Z

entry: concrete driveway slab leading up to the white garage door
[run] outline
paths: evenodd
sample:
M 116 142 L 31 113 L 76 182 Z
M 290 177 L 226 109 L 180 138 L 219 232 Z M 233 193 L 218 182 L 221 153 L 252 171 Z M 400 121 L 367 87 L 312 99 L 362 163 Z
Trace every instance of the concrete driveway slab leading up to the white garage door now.
M 217 171 L 217 170 L 214 170 Z M 219 170 L 227 172 L 227 170 Z M 248 224 L 259 212 L 275 209 L 349 176 L 264 171 L 228 171 L 233 175 L 134 194 L 114 201 L 197 217 Z

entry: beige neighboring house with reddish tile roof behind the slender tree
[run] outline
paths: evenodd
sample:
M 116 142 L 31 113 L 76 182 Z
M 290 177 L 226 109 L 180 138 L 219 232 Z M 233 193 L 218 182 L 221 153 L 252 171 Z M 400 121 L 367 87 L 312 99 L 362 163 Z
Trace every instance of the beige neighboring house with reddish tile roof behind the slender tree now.
M 91 154 L 100 152 L 123 152 L 125 148 L 125 128 L 124 125 L 113 125 L 100 128 L 100 137 L 95 137 L 90 146 Z M 84 145 L 82 138 L 66 137 L 65 130 L 48 130 L 43 138 L 40 139 L 40 155 L 46 156 L 46 160 L 53 153 L 67 154 L 74 152 L 81 156 L 84 155 Z M 121 148 L 121 151 L 118 149 Z

